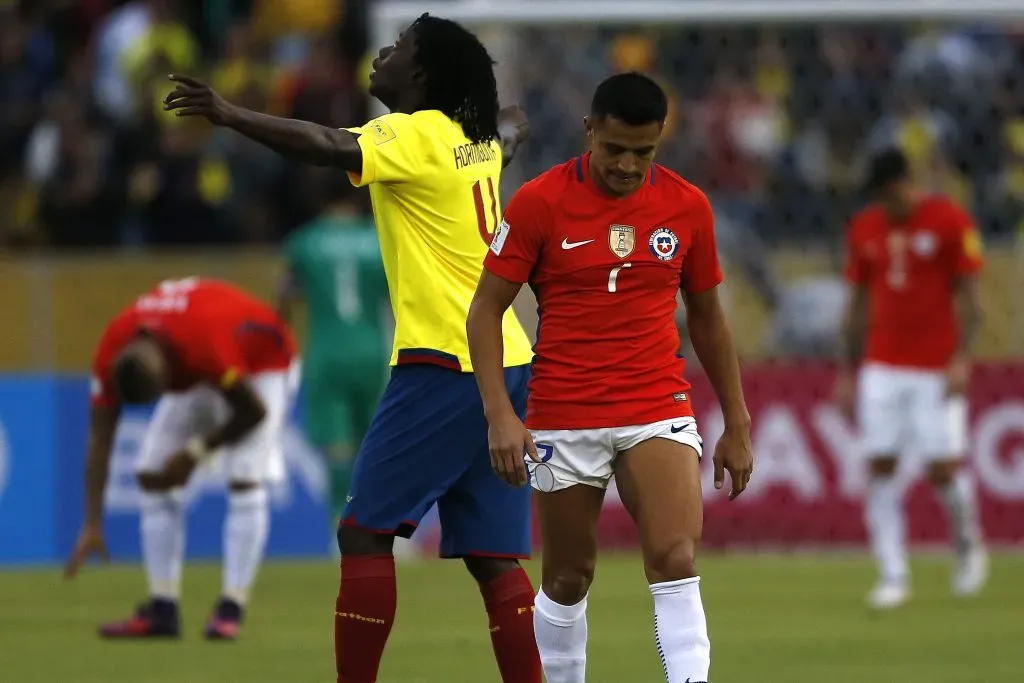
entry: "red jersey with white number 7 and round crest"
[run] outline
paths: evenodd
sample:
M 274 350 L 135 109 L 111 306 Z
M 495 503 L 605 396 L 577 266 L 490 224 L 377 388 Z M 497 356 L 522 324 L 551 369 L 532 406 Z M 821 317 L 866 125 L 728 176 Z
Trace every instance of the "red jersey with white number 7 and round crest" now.
M 537 295 L 530 429 L 692 415 L 676 292 L 722 282 L 703 193 L 654 165 L 639 189 L 611 198 L 594 185 L 589 162 L 585 155 L 523 185 L 484 261 Z

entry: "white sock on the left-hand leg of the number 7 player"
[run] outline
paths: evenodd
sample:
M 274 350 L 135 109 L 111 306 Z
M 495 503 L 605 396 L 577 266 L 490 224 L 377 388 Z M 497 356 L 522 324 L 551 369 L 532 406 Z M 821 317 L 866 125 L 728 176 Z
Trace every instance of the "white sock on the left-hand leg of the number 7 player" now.
M 587 679 L 587 598 L 558 604 L 545 593 L 534 599 L 534 632 L 548 683 L 584 683 Z

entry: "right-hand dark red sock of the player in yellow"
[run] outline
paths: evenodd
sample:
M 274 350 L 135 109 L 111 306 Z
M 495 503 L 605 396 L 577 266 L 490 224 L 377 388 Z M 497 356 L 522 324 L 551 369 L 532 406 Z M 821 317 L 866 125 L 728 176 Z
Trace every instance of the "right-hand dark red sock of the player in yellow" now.
M 534 587 L 522 567 L 480 586 L 502 683 L 542 683 L 534 638 Z

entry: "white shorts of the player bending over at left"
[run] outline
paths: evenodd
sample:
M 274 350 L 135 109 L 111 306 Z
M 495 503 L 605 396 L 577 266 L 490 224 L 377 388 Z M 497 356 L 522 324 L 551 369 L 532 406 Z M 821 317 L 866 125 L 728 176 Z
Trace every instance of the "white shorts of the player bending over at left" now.
M 294 373 L 274 371 L 250 378 L 263 399 L 266 417 L 241 441 L 225 445 L 211 459 L 223 468 L 228 481 L 276 483 L 285 478 L 282 441 L 285 419 L 294 392 Z M 145 430 L 136 472 L 159 472 L 189 438 L 203 436 L 230 417 L 230 408 L 215 388 L 200 385 L 180 393 L 166 393 L 157 403 Z

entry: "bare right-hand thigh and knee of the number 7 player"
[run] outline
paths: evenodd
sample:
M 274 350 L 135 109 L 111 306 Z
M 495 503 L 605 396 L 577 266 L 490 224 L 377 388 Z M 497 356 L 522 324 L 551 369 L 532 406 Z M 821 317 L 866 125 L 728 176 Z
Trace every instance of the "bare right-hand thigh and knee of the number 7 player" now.
M 620 454 L 615 482 L 640 533 L 647 581 L 695 577 L 703 525 L 696 450 L 668 438 L 648 438 Z

